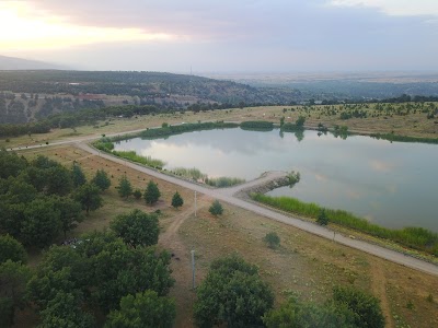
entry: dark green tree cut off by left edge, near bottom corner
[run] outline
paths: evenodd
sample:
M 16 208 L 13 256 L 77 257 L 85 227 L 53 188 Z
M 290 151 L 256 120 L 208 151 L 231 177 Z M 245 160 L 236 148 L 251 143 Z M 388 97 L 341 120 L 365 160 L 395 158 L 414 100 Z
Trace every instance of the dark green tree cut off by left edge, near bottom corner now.
M 13 325 L 15 309 L 25 305 L 31 277 L 31 269 L 20 262 L 7 260 L 0 265 L 0 327 Z

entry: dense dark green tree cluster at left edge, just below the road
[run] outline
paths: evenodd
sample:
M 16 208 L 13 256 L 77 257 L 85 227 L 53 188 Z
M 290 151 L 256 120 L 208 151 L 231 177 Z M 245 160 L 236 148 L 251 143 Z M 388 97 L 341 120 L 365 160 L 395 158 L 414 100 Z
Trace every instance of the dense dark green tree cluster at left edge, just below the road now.
M 83 212 L 102 206 L 101 192 L 110 187 L 104 171 L 88 183 L 78 164 L 67 168 L 37 156 L 28 162 L 0 150 L 0 233 L 25 246 L 43 248 L 77 226 Z

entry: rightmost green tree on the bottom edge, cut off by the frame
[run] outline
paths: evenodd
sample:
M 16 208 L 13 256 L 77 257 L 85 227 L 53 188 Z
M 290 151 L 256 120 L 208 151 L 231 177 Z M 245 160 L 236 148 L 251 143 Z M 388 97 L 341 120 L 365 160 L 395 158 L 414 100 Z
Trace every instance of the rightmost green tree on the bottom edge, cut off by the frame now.
M 374 296 L 353 286 L 333 289 L 335 304 L 346 305 L 355 314 L 355 325 L 358 328 L 383 328 L 384 316 L 380 301 Z

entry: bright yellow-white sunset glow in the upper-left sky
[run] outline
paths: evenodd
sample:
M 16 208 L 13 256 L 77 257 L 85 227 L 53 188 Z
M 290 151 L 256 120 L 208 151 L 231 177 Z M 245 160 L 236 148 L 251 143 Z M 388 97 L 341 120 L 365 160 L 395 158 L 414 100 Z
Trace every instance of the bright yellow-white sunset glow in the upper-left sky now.
M 147 33 L 140 28 L 78 26 L 60 16 L 36 11 L 25 1 L 0 3 L 0 50 L 39 50 L 68 48 L 94 43 L 129 40 L 166 40 L 165 33 Z

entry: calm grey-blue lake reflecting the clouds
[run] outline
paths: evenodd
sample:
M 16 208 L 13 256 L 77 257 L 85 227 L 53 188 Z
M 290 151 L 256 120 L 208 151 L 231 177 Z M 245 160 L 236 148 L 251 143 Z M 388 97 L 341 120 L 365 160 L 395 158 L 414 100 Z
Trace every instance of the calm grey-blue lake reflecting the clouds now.
M 298 138 L 297 138 L 298 137 Z M 302 139 L 302 140 L 301 140 Z M 115 150 L 166 162 L 168 169 L 196 167 L 209 177 L 246 180 L 267 171 L 298 171 L 293 187 L 268 195 L 343 209 L 387 227 L 423 226 L 438 232 L 438 145 L 391 143 L 364 136 L 346 140 L 307 130 L 206 130 L 166 139 L 135 138 Z

